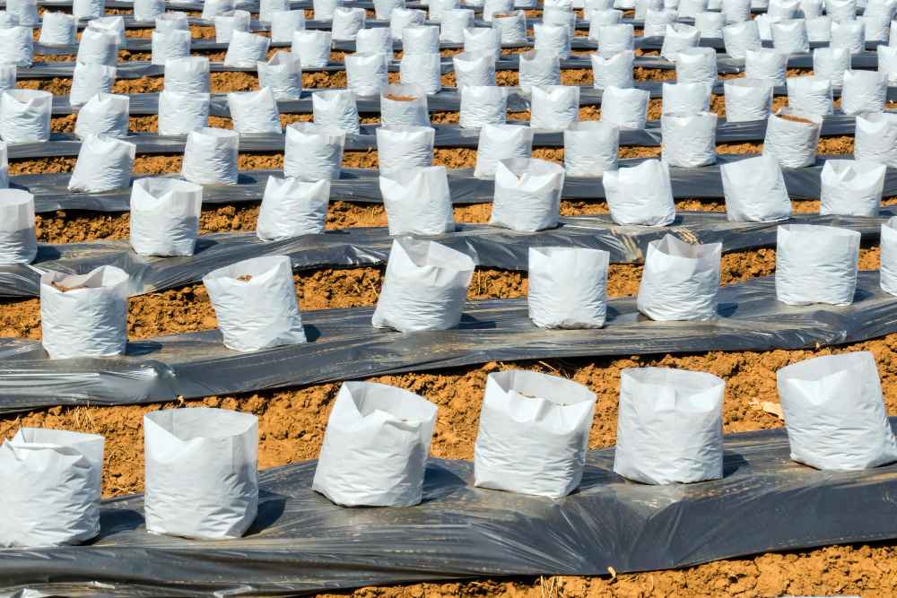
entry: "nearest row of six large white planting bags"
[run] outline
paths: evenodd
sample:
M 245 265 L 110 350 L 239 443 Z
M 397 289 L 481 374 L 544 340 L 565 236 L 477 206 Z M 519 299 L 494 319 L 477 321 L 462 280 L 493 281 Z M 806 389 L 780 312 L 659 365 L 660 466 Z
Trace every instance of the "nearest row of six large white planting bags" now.
M 830 355 L 779 369 L 791 458 L 823 471 L 897 461 L 875 359 Z M 621 372 L 614 472 L 667 485 L 724 477 L 725 382 L 667 368 Z M 571 380 L 509 370 L 486 379 L 476 487 L 562 498 L 582 480 L 596 395 Z M 437 407 L 380 384 L 346 382 L 311 484 L 336 505 L 421 503 Z M 144 415 L 146 531 L 239 538 L 258 512 L 257 417 L 195 408 Z M 674 430 L 671 433 L 671 430 Z M 0 446 L 0 546 L 87 542 L 100 533 L 104 439 L 20 429 Z

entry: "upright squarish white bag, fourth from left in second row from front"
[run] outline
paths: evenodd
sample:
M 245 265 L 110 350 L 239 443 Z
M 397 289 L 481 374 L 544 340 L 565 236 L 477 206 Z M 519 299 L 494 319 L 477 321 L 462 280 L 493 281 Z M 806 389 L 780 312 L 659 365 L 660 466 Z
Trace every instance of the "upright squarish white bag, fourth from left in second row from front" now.
M 610 254 L 588 247 L 530 247 L 527 308 L 540 328 L 600 328 Z

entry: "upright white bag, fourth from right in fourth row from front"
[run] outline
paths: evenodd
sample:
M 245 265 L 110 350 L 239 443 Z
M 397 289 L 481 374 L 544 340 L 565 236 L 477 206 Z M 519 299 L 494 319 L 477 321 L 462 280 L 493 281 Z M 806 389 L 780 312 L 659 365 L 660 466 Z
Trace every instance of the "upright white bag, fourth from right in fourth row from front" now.
M 600 177 L 617 168 L 620 129 L 601 121 L 574 123 L 563 132 L 563 147 L 568 177 Z

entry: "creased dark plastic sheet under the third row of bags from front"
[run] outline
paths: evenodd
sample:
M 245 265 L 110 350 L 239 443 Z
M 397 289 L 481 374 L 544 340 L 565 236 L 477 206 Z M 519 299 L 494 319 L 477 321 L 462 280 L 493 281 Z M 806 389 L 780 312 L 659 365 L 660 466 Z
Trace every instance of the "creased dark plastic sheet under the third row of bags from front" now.
M 879 218 L 796 214 L 790 222 L 857 230 L 869 242 L 879 238 L 881 225 L 895 214 L 892 209 Z M 648 244 L 668 233 L 690 243 L 722 243 L 729 252 L 775 245 L 782 223 L 730 222 L 724 213 L 682 212 L 670 227 L 640 227 L 617 226 L 610 216 L 573 216 L 562 218 L 559 228 L 534 233 L 459 224 L 455 232 L 434 239 L 483 267 L 526 270 L 529 247 L 603 249 L 614 264 L 638 264 Z M 193 256 L 179 257 L 138 256 L 126 240 L 43 244 L 30 265 L 0 265 L 0 298 L 36 297 L 40 270 L 83 274 L 114 265 L 130 275 L 128 290 L 138 295 L 198 282 L 216 268 L 259 256 L 290 256 L 297 270 L 385 264 L 391 243 L 386 228 L 352 228 L 274 242 L 260 241 L 254 233 L 215 233 L 199 238 Z

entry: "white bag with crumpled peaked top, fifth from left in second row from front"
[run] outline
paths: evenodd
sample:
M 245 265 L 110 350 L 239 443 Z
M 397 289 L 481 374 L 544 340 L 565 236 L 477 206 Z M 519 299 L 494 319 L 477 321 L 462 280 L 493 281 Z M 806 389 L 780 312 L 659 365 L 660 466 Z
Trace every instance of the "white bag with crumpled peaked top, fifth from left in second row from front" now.
M 722 243 L 691 245 L 673 235 L 651 241 L 641 273 L 639 311 L 652 320 L 717 317 Z

